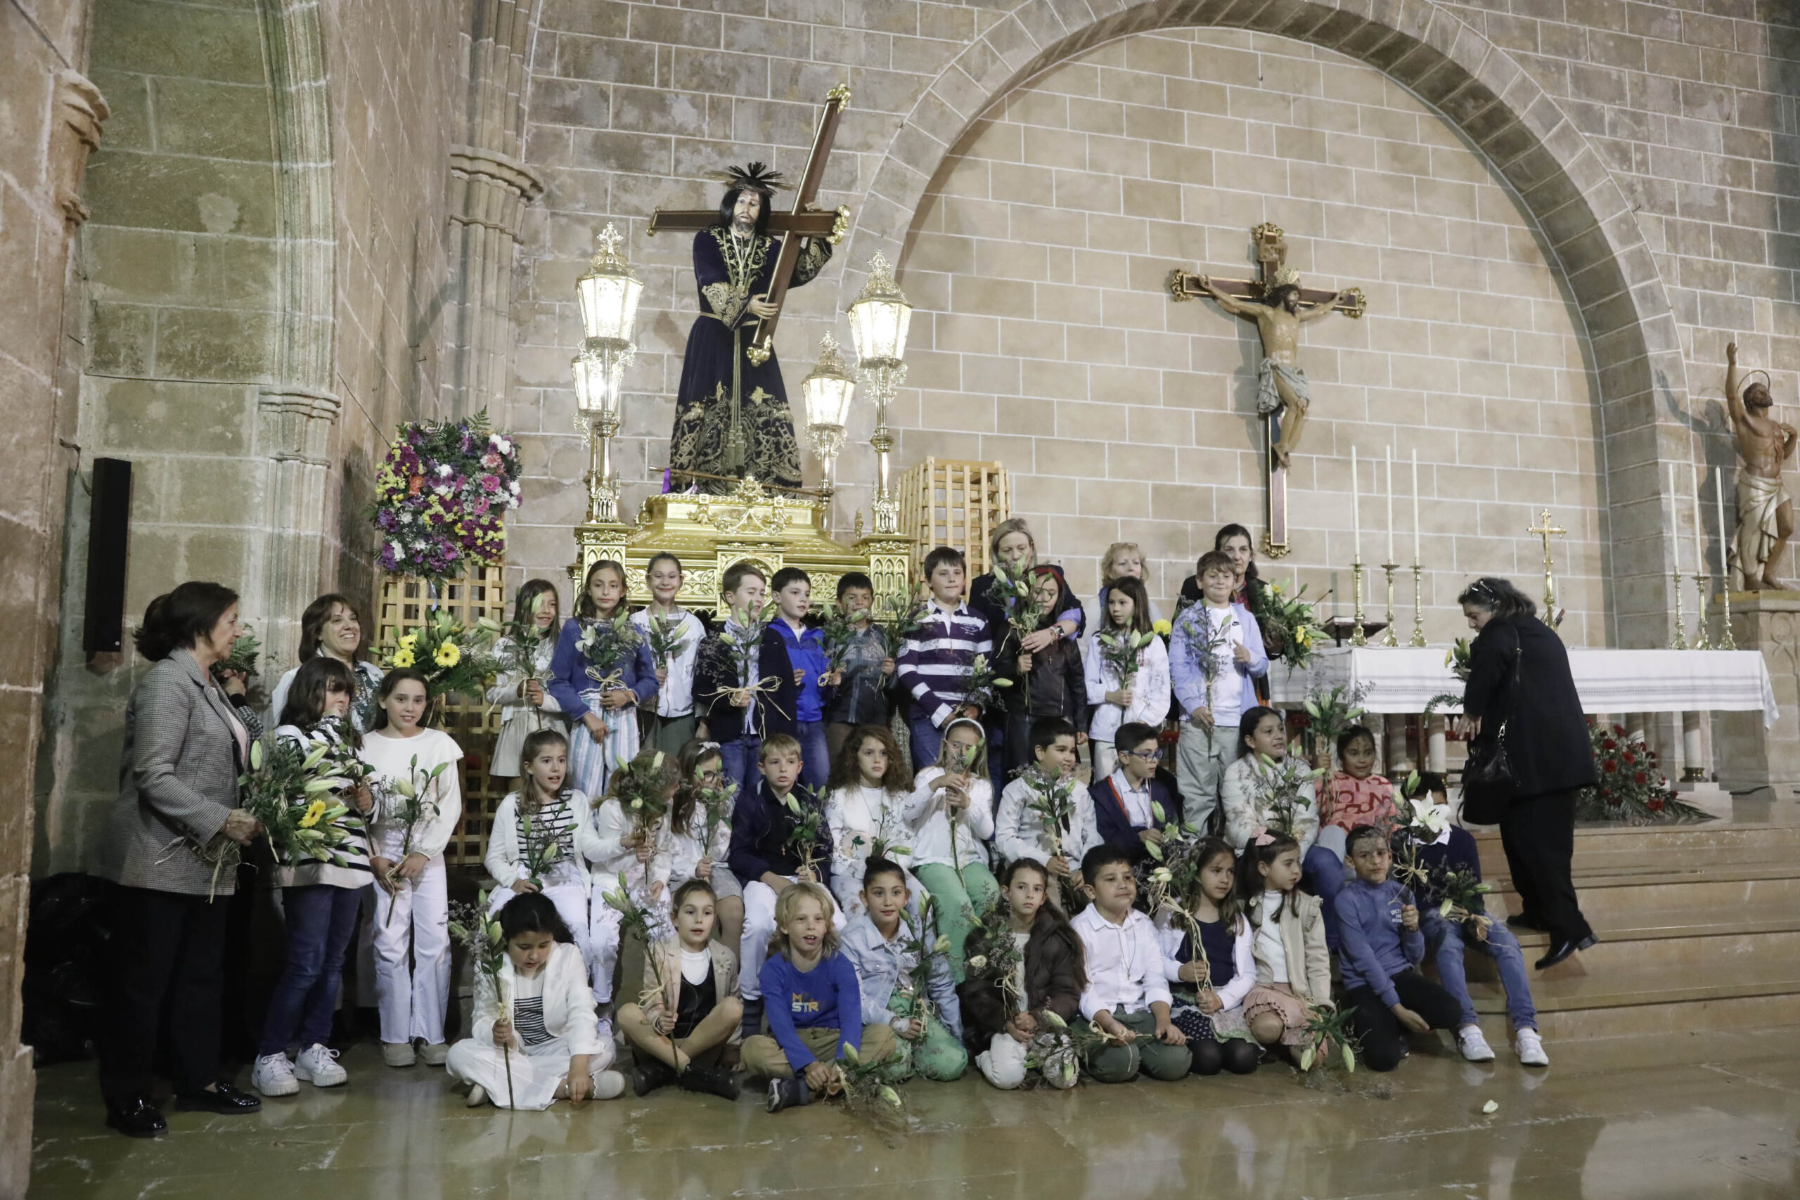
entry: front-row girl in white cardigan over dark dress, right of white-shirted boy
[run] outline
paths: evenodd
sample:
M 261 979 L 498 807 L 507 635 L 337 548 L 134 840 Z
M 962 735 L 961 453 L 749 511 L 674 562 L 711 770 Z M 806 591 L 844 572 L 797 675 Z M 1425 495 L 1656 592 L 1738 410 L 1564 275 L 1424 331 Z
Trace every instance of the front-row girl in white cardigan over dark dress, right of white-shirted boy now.
M 1262 1054 L 1244 1024 L 1244 997 L 1256 986 L 1256 957 L 1237 896 L 1237 855 L 1220 838 L 1204 838 L 1197 858 L 1201 874 L 1186 900 L 1186 918 L 1157 918 L 1174 995 L 1170 1020 L 1188 1034 L 1193 1074 L 1247 1076 Z

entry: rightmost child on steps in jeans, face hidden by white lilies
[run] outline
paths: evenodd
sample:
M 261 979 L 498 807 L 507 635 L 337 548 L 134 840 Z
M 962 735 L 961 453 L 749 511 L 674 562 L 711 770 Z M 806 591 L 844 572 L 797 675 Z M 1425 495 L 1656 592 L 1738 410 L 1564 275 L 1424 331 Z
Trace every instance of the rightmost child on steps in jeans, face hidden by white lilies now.
M 1422 792 L 1433 792 L 1433 783 L 1442 790 L 1440 777 L 1420 775 Z M 1487 916 L 1480 894 L 1465 892 L 1462 900 L 1467 907 L 1453 903 L 1447 914 L 1440 914 L 1449 898 L 1445 882 L 1453 873 L 1467 883 L 1481 882 L 1481 856 L 1474 835 L 1462 826 L 1449 824 L 1449 806 L 1442 808 L 1445 811 L 1444 833 L 1436 840 L 1418 846 L 1413 853 L 1424 874 L 1418 900 L 1426 954 L 1438 968 L 1438 982 L 1462 1006 L 1456 1049 L 1472 1063 L 1494 1060 L 1494 1049 L 1481 1036 L 1481 1024 L 1476 1018 L 1474 1002 L 1469 999 L 1469 979 L 1463 973 L 1463 955 L 1472 950 L 1494 959 L 1494 966 L 1499 970 L 1519 1061 L 1526 1067 L 1548 1067 L 1550 1054 L 1544 1052 L 1544 1040 L 1537 1033 L 1537 1006 L 1532 1004 L 1532 982 L 1525 973 L 1525 952 L 1519 950 L 1519 939 L 1510 928 Z

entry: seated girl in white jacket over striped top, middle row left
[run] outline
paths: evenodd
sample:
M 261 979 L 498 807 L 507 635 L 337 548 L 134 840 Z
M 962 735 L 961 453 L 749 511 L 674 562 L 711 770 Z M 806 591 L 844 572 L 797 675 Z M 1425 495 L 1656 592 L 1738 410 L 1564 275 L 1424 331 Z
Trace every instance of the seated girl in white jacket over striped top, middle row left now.
M 518 752 L 524 777 L 493 810 L 484 865 L 495 889 L 488 912 L 499 912 L 513 896 L 542 892 L 556 905 L 589 961 L 587 858 L 576 853 L 576 833 L 589 824 L 589 797 L 569 783 L 569 739 L 562 730 L 540 729 L 526 736 Z

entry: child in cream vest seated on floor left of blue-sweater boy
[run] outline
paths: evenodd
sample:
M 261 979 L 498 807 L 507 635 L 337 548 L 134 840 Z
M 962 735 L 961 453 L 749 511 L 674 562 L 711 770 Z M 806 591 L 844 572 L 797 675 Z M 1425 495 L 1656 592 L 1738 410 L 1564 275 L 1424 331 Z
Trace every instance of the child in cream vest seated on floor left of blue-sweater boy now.
M 677 1083 L 684 1092 L 738 1097 L 731 1069 L 718 1061 L 743 1018 L 738 955 L 713 941 L 713 903 L 706 880 L 675 889 L 675 937 L 644 955 L 644 1002 L 619 1007 L 637 1096 Z

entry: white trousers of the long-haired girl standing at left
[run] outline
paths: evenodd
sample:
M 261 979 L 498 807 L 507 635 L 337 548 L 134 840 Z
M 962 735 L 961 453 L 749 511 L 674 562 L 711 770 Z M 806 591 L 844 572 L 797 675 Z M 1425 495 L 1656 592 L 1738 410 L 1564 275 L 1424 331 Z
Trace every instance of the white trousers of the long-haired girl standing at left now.
M 392 896 L 374 889 L 374 999 L 383 1042 L 445 1040 L 450 896 L 443 855 L 427 862 L 419 878 L 401 880 Z

